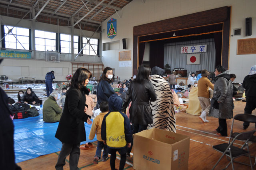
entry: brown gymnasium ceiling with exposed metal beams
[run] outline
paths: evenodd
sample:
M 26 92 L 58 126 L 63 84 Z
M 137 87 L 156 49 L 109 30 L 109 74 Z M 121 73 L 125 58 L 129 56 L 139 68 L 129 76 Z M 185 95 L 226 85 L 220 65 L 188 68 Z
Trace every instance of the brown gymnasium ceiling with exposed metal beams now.
M 132 0 L 0 0 L 0 15 L 96 31 L 104 20 L 130 2 Z M 71 24 L 72 18 L 74 24 Z

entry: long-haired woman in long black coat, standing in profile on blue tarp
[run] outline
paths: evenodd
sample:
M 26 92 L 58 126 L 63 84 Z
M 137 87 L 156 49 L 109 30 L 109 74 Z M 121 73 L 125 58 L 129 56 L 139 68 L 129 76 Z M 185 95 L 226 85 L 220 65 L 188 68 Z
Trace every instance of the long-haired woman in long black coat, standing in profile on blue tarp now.
M 86 141 L 84 122 L 92 124 L 90 116 L 85 112 L 85 94 L 89 94 L 86 85 L 92 73 L 86 68 L 78 68 L 70 82 L 70 89 L 66 93 L 65 107 L 55 137 L 62 142 L 56 170 L 63 170 L 65 159 L 70 155 L 70 170 L 77 170 L 80 156 L 80 142 Z

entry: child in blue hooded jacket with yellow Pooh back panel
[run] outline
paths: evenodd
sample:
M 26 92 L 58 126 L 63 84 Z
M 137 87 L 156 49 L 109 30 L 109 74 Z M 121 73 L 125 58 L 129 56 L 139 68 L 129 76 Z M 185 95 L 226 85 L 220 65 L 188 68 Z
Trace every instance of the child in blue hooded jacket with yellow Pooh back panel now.
M 108 100 L 108 110 L 102 121 L 101 138 L 111 154 L 111 170 L 116 170 L 116 151 L 121 155 L 119 170 L 123 170 L 126 162 L 126 146 L 130 148 L 132 142 L 130 120 L 121 112 L 122 99 L 115 94 L 112 94 Z

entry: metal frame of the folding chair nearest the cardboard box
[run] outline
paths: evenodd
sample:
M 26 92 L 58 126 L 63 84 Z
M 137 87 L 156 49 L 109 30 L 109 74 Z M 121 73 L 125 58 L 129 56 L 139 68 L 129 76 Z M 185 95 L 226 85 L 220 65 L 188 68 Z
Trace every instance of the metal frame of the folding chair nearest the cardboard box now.
M 228 165 L 227 165 L 224 169 L 228 168 L 228 166 L 230 166 L 230 164 L 232 164 L 232 170 L 234 170 L 234 164 L 233 164 L 234 159 L 235 159 L 235 158 L 238 158 L 238 157 L 240 157 L 240 156 L 247 155 L 247 154 L 248 154 L 248 156 L 249 156 L 251 169 L 253 170 L 252 161 L 251 161 L 251 156 L 250 156 L 250 151 L 249 151 L 249 146 L 248 146 L 248 141 L 250 140 L 250 138 L 252 137 L 252 135 L 254 134 L 254 132 L 256 132 L 256 130 L 252 130 L 252 131 L 249 131 L 249 132 L 242 132 L 242 133 L 239 133 L 238 135 L 236 135 L 236 137 L 234 138 L 234 140 L 232 140 L 232 142 L 224 143 L 224 144 L 228 144 L 228 147 L 226 148 L 226 150 L 225 150 L 224 152 L 222 152 L 221 150 L 215 149 L 214 146 L 213 146 L 212 148 L 213 148 L 214 150 L 216 150 L 216 151 L 222 153 L 222 156 L 220 157 L 220 159 L 218 160 L 218 162 L 214 165 L 214 167 L 212 168 L 212 170 L 214 170 L 214 168 L 217 166 L 217 164 L 220 162 L 220 160 L 223 158 L 224 155 L 230 157 L 230 162 L 228 163 Z M 235 141 L 237 138 L 239 138 L 240 136 L 243 136 L 243 135 L 248 135 L 248 139 L 245 141 L 245 145 L 246 145 L 247 150 L 243 150 L 242 148 L 238 148 L 238 147 L 236 147 L 236 146 L 233 146 L 234 141 Z M 217 145 L 215 145 L 215 146 L 217 146 Z M 238 156 L 236 156 L 236 157 L 233 157 L 233 156 L 232 156 L 232 148 L 233 148 L 233 149 L 237 149 L 237 148 L 238 148 L 238 149 L 242 149 L 243 151 L 245 151 L 245 153 L 240 154 L 240 155 L 238 155 Z M 239 163 L 240 163 L 240 162 L 239 162 Z M 223 170 L 224 170 L 224 169 L 223 169 Z

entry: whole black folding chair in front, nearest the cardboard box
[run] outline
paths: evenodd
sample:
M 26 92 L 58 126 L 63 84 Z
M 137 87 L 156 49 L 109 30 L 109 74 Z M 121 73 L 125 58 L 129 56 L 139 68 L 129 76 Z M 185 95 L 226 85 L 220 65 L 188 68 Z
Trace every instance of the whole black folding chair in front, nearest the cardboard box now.
M 224 155 L 230 157 L 230 162 L 228 163 L 228 165 L 224 169 L 228 168 L 228 166 L 230 166 L 230 164 L 232 164 L 232 170 L 234 170 L 233 160 L 235 158 L 238 158 L 240 156 L 247 155 L 247 154 L 249 156 L 250 166 L 252 168 L 252 161 L 251 161 L 251 156 L 250 156 L 250 151 L 249 151 L 249 146 L 248 146 L 248 140 L 252 137 L 254 132 L 256 132 L 256 130 L 252 130 L 250 132 L 242 132 L 242 133 L 237 134 L 236 137 L 230 143 L 223 143 L 223 144 L 218 144 L 218 145 L 212 146 L 212 148 L 214 150 L 222 153 L 222 156 L 220 157 L 218 162 L 214 165 L 212 170 L 214 170 L 214 168 L 217 166 L 217 164 L 220 162 L 220 160 L 222 159 L 222 157 Z M 245 141 L 245 145 L 247 147 L 247 150 L 244 150 L 242 148 L 238 148 L 236 146 L 233 146 L 234 141 L 236 141 L 236 139 L 239 138 L 240 136 L 247 136 L 247 139 Z M 252 170 L 253 170 L 253 168 L 252 168 Z

